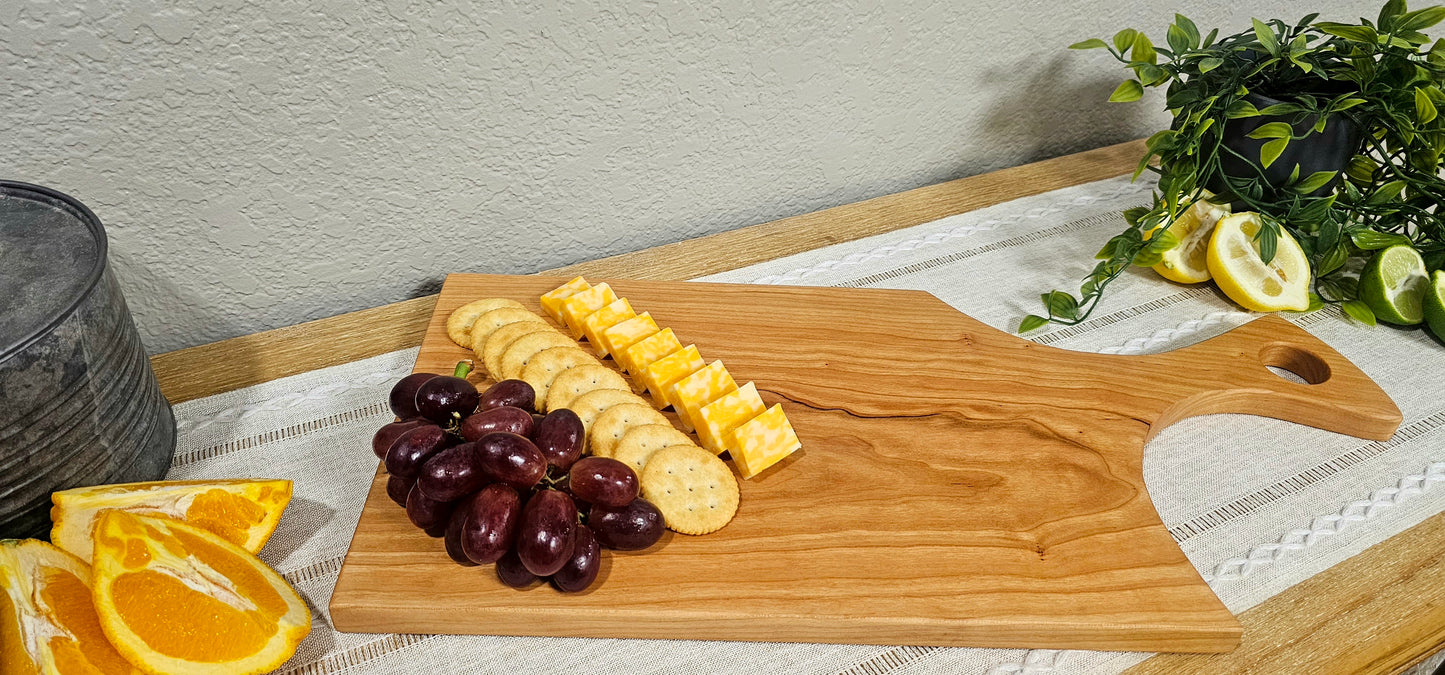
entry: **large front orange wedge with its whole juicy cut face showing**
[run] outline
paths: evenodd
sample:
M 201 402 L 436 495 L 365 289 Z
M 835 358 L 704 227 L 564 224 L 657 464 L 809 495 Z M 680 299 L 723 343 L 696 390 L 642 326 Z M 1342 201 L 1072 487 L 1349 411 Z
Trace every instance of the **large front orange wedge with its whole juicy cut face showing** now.
M 311 611 L 279 574 L 179 520 L 101 512 L 92 565 L 105 636 L 147 672 L 269 672 L 311 632 Z

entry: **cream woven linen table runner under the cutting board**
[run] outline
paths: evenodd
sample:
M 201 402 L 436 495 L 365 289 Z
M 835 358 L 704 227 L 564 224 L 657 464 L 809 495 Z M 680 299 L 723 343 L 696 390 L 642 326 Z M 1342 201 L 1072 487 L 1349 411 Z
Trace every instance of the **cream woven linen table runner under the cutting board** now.
M 928 291 L 1012 331 L 1039 293 L 1075 286 L 1149 184 L 1078 185 L 702 280 Z M 1208 286 L 1134 269 L 1088 321 L 1030 334 L 1078 351 L 1140 354 L 1256 318 Z M 1358 364 L 1405 422 L 1384 442 L 1247 415 L 1185 419 L 1144 448 L 1156 509 L 1189 561 L 1240 613 L 1445 509 L 1445 351 L 1423 331 L 1366 328 L 1335 309 L 1286 315 Z M 171 478 L 280 477 L 295 500 L 262 556 L 311 604 L 314 626 L 277 672 L 1113 674 L 1146 653 L 699 640 L 348 635 L 327 603 L 366 499 L 370 437 L 416 350 L 176 406 Z M 746 507 L 746 506 L 744 506 Z M 644 562 L 644 561 L 643 561 Z M 399 572 L 402 574 L 402 572 Z M 484 574 L 484 572 L 478 572 Z M 418 598 L 423 603 L 425 598 Z

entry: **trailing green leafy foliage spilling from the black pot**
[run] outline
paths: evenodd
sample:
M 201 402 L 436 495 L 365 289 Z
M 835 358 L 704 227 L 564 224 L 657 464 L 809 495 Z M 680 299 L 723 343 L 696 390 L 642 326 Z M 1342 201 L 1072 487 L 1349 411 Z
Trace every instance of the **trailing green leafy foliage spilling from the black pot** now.
M 1169 129 L 1149 137 L 1134 171 L 1157 173 L 1150 207 L 1124 211 L 1129 227 L 1098 251 L 1100 260 L 1079 285 L 1079 295 L 1043 293 L 1045 315 L 1029 315 L 1020 332 L 1049 322 L 1078 324 L 1098 306 L 1104 289 L 1129 266 L 1153 266 L 1178 244 L 1172 236 L 1147 237 L 1172 223 L 1189 202 L 1215 192 L 1214 202 L 1243 204 L 1261 215 L 1260 257 L 1274 257 L 1276 241 L 1287 230 L 1309 257 L 1314 272 L 1311 308 L 1338 302 L 1368 324 L 1370 308 L 1355 298 L 1354 270 L 1374 250 L 1407 243 L 1429 269 L 1445 263 L 1445 40 L 1431 43 L 1422 32 L 1445 20 L 1445 7 L 1409 12 L 1390 0 L 1374 22 L 1253 20 L 1250 30 L 1218 38 L 1201 36 L 1188 17 L 1175 14 L 1165 43 L 1123 29 L 1111 40 L 1090 39 L 1071 49 L 1105 49 L 1133 77 L 1110 101 L 1143 97 L 1163 88 L 1173 114 Z M 1279 104 L 1259 108 L 1250 94 Z M 1259 156 L 1244 156 L 1225 143 L 1231 120 L 1273 117 L 1248 137 L 1263 142 Z M 1344 169 L 1300 175 L 1299 165 L 1283 182 L 1264 175 L 1292 143 L 1311 140 L 1334 119 L 1347 119 L 1361 132 L 1360 147 Z M 1227 172 L 1233 162 L 1247 171 Z M 1334 182 L 1331 189 L 1327 188 Z M 1321 194 L 1324 192 L 1324 194 Z M 1160 230 L 1163 233 L 1163 230 Z M 1168 234 L 1168 233 L 1163 233 Z

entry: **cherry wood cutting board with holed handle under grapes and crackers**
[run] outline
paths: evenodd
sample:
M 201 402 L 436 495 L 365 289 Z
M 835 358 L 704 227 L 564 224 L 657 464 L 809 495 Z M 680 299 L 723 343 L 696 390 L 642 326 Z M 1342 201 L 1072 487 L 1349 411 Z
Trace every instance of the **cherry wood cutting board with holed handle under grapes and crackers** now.
M 447 338 L 457 306 L 540 312 L 564 280 L 448 276 L 416 370 L 470 358 Z M 1144 442 L 1217 412 L 1373 439 L 1400 424 L 1364 373 L 1274 317 L 1107 356 L 918 291 L 601 280 L 782 402 L 803 450 L 740 481 L 722 530 L 605 552 L 575 596 L 455 565 L 379 473 L 331 597 L 338 630 L 1227 652 L 1240 624 L 1155 512 Z

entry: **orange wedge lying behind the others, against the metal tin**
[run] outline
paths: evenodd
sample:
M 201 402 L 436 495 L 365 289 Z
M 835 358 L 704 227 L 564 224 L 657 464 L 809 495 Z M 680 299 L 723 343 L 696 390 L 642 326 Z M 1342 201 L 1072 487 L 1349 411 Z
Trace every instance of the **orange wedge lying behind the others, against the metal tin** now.
M 91 559 L 91 530 L 105 509 L 169 516 L 250 552 L 270 539 L 290 503 L 289 480 L 195 480 L 77 487 L 51 494 L 51 541 Z

